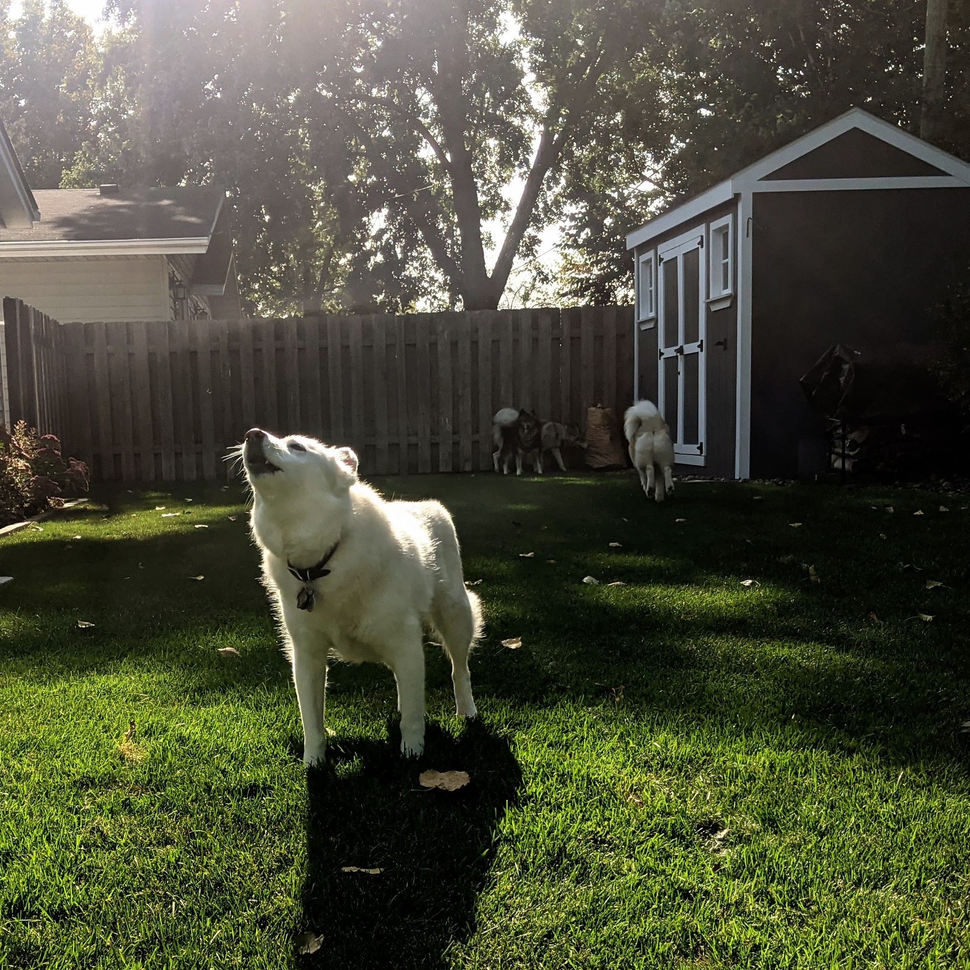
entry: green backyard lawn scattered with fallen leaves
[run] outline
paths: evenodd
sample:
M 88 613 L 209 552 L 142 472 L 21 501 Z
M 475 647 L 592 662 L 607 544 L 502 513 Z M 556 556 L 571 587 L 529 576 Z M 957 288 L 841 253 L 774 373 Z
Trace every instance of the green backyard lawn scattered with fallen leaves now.
M 0 966 L 970 966 L 970 501 L 380 484 L 455 515 L 481 716 L 429 645 L 404 762 L 390 673 L 339 665 L 308 780 L 239 486 L 0 541 Z

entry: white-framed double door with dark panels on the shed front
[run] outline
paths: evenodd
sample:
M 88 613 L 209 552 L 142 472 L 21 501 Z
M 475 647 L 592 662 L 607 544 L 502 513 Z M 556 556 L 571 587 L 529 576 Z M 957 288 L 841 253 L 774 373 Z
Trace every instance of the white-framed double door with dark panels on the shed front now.
M 661 247 L 658 399 L 676 460 L 704 464 L 704 231 L 699 227 Z

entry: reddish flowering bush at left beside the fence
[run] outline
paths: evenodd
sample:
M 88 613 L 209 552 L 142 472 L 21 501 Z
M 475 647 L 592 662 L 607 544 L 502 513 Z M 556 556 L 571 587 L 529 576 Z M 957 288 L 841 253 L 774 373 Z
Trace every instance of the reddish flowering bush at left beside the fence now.
M 61 455 L 60 440 L 18 421 L 0 427 L 0 525 L 18 522 L 87 493 L 87 466 Z

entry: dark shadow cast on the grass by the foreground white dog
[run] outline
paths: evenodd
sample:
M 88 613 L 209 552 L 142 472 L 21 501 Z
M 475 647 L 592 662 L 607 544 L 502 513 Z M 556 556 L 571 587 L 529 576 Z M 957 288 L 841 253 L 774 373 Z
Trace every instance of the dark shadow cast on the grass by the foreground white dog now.
M 420 760 L 404 760 L 400 732 L 389 733 L 389 741 L 338 740 L 326 768 L 307 773 L 300 928 L 322 940 L 298 966 L 443 966 L 449 944 L 474 929 L 498 825 L 520 796 L 518 763 L 508 741 L 480 722 L 457 738 L 429 725 Z M 418 775 L 429 768 L 467 771 L 470 784 L 423 789 Z

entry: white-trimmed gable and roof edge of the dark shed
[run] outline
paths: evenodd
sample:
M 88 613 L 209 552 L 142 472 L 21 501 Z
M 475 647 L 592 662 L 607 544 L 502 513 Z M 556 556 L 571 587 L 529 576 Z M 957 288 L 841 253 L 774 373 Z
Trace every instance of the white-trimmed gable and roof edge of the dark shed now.
M 854 172 L 840 178 L 790 177 L 803 175 L 798 170 L 798 159 L 819 152 L 824 149 L 824 146 L 850 133 L 862 133 L 863 136 L 868 136 L 870 141 L 877 140 L 899 155 L 910 156 L 911 168 L 906 171 L 913 174 L 898 175 L 891 168 L 887 169 L 887 178 L 880 178 L 874 172 L 863 174 L 863 162 L 863 168 L 857 168 Z M 863 153 L 859 151 L 859 146 L 854 147 L 857 154 Z M 801 138 L 795 139 L 789 145 L 778 148 L 757 162 L 740 169 L 730 178 L 718 182 L 705 192 L 678 203 L 650 219 L 627 235 L 627 248 L 632 249 L 643 242 L 655 239 L 681 223 L 696 218 L 702 212 L 729 202 L 738 192 L 799 191 L 807 187 L 807 182 L 813 182 L 816 185 L 821 182 L 831 188 L 860 189 L 905 188 L 907 185 L 970 187 L 970 164 L 942 148 L 923 142 L 915 135 L 910 135 L 896 125 L 890 124 L 889 121 L 884 121 L 861 108 L 852 108 L 806 135 L 802 135 Z

